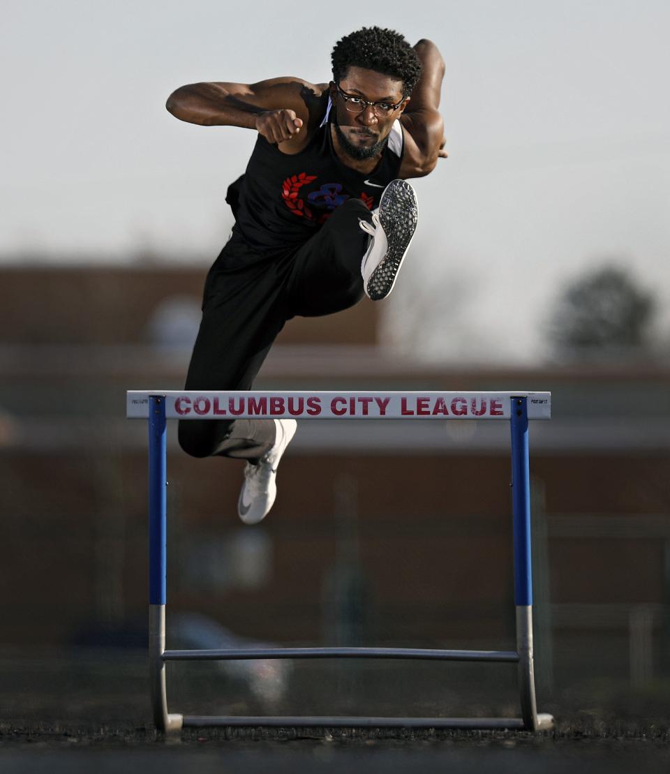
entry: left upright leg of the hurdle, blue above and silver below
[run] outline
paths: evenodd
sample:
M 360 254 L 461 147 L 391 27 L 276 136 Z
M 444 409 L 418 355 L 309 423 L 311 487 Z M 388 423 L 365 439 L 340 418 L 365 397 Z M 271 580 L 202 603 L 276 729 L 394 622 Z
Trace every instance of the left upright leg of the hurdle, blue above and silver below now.
M 169 714 L 166 694 L 167 453 L 165 396 L 149 397 L 149 679 L 159 731 L 179 731 L 182 716 Z

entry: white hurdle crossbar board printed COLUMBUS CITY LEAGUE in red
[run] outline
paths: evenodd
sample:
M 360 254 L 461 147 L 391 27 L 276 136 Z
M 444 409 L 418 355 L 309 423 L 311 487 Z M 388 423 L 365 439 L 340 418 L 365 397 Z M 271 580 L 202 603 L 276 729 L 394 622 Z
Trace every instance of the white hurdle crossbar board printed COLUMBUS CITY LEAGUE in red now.
M 529 420 L 549 420 L 551 392 L 198 392 L 130 390 L 126 416 L 149 417 L 149 396 L 165 396 L 168 420 L 509 420 L 511 399 L 527 398 Z

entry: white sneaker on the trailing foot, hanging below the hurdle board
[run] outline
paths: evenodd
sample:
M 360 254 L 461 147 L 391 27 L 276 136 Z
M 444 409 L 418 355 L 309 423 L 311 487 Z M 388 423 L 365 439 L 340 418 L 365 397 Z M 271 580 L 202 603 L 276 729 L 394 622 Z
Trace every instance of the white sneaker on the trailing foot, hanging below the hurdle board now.
M 275 420 L 275 445 L 257 465 L 244 467 L 244 484 L 238 500 L 238 515 L 245 524 L 258 524 L 265 519 L 277 496 L 277 466 L 286 447 L 296 434 L 296 420 Z

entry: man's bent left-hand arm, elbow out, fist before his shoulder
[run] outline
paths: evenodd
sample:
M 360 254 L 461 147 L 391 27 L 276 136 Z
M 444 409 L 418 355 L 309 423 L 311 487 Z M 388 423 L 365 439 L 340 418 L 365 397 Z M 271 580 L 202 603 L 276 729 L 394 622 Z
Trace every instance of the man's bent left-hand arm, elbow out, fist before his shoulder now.
M 268 142 L 298 139 L 309 121 L 309 101 L 321 87 L 292 77 L 258 84 L 200 83 L 179 87 L 166 108 L 181 121 L 200 126 L 255 129 Z

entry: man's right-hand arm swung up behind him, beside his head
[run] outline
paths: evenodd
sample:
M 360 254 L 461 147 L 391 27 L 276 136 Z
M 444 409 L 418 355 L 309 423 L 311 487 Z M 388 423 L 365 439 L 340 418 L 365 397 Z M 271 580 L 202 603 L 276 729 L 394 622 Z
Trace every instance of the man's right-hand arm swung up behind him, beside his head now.
M 445 64 L 435 43 L 419 40 L 415 46 L 422 63 L 419 83 L 412 91 L 400 117 L 405 127 L 405 152 L 400 173 L 422 177 L 435 169 L 437 160 L 446 159 L 444 122 L 439 114 L 439 98 Z

